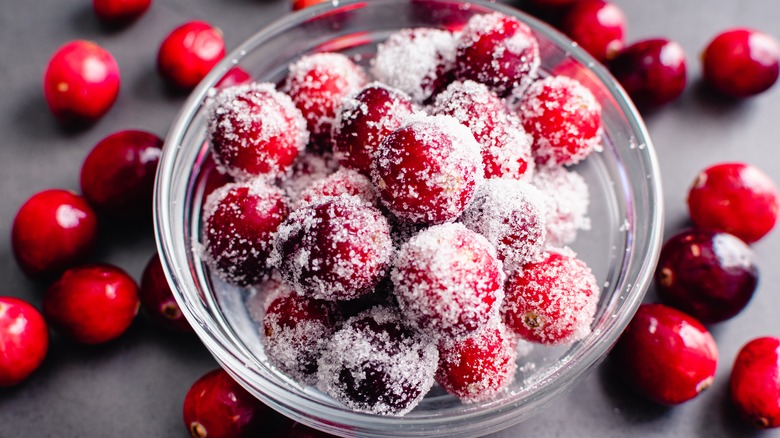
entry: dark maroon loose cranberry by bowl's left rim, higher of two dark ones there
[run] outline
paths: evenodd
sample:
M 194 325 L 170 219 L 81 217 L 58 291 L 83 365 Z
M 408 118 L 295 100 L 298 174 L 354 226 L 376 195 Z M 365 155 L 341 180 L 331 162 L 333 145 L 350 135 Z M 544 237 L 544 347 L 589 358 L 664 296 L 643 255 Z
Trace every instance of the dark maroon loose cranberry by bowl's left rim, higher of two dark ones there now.
M 145 131 L 120 131 L 100 140 L 81 165 L 81 192 L 99 213 L 150 217 L 163 141 Z

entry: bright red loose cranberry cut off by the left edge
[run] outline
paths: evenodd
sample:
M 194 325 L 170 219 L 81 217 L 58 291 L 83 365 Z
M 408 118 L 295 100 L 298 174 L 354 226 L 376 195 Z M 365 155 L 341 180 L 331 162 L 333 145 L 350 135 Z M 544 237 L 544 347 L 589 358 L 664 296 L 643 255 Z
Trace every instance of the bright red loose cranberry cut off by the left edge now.
M 0 297 L 0 387 L 26 379 L 48 347 L 49 331 L 38 310 L 19 298 Z

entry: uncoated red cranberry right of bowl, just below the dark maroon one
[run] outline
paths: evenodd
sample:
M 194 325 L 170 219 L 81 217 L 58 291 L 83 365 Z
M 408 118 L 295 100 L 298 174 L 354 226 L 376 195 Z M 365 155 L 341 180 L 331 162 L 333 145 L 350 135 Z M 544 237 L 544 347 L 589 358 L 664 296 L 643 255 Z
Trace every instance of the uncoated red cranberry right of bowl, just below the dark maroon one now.
M 639 394 L 676 405 L 712 384 L 718 348 L 693 317 L 662 304 L 643 304 L 612 357 L 616 370 Z

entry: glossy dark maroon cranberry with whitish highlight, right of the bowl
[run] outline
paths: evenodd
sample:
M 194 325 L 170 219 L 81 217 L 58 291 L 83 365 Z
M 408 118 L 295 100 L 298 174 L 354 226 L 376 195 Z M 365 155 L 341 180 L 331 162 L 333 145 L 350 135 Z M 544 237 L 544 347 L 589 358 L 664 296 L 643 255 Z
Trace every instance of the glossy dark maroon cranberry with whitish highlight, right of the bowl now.
M 750 248 L 727 233 L 689 229 L 669 239 L 655 271 L 658 296 L 704 324 L 736 315 L 758 285 Z

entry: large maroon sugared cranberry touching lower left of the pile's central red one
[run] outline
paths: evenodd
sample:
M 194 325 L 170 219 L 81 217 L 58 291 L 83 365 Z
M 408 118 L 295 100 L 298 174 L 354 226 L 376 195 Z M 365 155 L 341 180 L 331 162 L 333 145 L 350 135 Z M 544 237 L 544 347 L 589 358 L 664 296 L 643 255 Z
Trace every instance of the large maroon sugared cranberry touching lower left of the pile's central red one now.
M 352 196 L 295 210 L 274 238 L 274 262 L 303 295 L 348 300 L 374 290 L 392 257 L 387 219 Z

